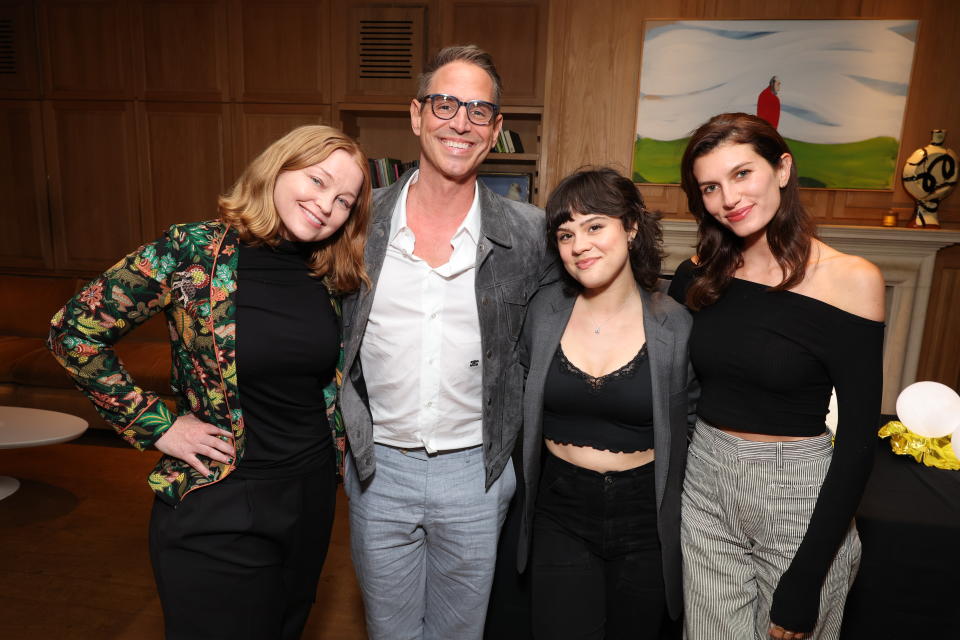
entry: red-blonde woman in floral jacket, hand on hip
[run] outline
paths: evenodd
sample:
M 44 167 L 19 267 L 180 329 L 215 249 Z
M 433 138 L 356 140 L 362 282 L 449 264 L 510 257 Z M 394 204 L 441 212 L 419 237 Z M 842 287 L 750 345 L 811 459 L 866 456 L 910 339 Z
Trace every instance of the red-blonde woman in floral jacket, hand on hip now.
M 339 296 L 367 281 L 369 209 L 357 144 L 300 127 L 221 196 L 218 220 L 170 227 L 53 317 L 50 350 L 77 387 L 164 454 L 150 552 L 167 638 L 300 637 L 343 451 Z M 113 350 L 160 311 L 176 415 Z

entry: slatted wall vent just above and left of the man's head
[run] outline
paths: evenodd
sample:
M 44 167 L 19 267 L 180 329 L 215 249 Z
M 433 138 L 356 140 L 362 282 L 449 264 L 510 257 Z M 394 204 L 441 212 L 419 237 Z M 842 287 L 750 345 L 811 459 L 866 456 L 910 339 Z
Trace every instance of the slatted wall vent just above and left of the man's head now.
M 360 20 L 361 78 L 413 78 L 412 20 Z

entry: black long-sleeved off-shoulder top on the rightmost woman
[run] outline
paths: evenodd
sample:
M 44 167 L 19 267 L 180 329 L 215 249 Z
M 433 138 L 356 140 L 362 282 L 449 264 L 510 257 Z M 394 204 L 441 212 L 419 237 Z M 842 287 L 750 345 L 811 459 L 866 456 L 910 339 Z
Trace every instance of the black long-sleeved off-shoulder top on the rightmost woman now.
M 696 271 L 689 260 L 677 268 L 674 299 L 685 302 Z M 774 592 L 771 618 L 787 629 L 816 625 L 820 587 L 870 474 L 883 327 L 809 296 L 738 278 L 693 314 L 690 360 L 701 385 L 697 413 L 707 422 L 753 433 L 819 435 L 830 390 L 837 391 L 833 459 L 807 532 Z

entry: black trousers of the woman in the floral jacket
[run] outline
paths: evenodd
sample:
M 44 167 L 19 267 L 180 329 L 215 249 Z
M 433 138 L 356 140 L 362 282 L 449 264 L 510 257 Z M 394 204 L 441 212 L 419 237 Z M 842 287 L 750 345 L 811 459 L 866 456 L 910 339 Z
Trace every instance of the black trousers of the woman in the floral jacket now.
M 155 500 L 150 556 L 167 640 L 293 640 L 316 597 L 336 502 L 333 456 L 289 478 L 244 475 Z

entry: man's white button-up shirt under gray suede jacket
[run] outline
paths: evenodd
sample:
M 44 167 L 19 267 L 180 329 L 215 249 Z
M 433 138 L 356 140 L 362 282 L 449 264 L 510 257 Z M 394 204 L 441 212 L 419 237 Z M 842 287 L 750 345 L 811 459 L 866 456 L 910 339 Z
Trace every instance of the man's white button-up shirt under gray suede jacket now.
M 374 442 L 428 452 L 482 443 L 480 319 L 474 289 L 480 191 L 450 240 L 450 260 L 413 254 L 407 193 L 397 199 L 389 244 L 360 345 Z

